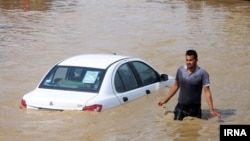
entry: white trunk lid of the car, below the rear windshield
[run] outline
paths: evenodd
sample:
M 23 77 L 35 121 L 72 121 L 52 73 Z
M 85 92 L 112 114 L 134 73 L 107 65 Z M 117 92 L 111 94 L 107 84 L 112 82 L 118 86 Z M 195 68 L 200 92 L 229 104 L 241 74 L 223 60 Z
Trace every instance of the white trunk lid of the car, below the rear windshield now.
M 82 110 L 96 93 L 48 90 L 37 88 L 24 95 L 27 108 L 51 110 Z

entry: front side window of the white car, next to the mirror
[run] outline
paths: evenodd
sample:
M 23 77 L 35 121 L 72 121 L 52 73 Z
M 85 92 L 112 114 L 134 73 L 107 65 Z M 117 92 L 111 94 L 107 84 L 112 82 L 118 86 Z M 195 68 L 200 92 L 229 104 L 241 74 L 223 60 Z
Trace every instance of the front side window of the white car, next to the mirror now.
M 159 81 L 158 73 L 147 64 L 138 61 L 132 62 L 132 64 L 138 72 L 143 86 Z

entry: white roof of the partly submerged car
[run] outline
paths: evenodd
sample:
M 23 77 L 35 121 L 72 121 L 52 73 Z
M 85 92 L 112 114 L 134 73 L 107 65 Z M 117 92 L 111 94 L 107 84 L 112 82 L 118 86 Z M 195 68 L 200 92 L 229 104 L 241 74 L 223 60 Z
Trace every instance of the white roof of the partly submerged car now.
M 70 57 L 60 62 L 58 65 L 106 69 L 114 62 L 129 58 L 132 57 L 116 54 L 82 54 Z

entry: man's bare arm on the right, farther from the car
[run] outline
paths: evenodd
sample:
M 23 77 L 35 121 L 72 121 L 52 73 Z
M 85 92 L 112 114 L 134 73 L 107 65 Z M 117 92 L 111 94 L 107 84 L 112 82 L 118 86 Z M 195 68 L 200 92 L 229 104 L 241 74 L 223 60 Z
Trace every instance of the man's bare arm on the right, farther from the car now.
M 204 86 L 203 91 L 205 93 L 205 97 L 206 97 L 206 100 L 207 100 L 207 104 L 208 104 L 210 113 L 213 116 L 220 118 L 221 115 L 219 113 L 217 113 L 216 111 L 214 111 L 213 98 L 212 98 L 212 94 L 211 94 L 211 91 L 210 91 L 210 87 L 209 86 Z

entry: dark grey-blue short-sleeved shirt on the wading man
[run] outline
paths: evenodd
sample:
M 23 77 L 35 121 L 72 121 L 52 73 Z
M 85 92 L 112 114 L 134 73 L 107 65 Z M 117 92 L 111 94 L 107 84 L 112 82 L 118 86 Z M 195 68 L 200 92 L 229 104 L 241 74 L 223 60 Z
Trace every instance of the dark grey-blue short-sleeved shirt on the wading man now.
M 207 71 L 199 66 L 191 74 L 188 74 L 187 66 L 179 67 L 176 81 L 180 86 L 178 102 L 187 106 L 201 104 L 202 88 L 210 84 Z

